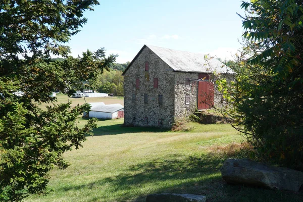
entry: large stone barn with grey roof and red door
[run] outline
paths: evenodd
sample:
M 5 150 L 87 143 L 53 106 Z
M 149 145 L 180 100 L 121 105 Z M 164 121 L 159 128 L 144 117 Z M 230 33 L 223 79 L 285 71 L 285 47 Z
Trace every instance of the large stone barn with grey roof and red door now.
M 195 109 L 209 109 L 222 98 L 212 72 L 233 74 L 203 54 L 144 45 L 123 72 L 124 124 L 171 127 Z

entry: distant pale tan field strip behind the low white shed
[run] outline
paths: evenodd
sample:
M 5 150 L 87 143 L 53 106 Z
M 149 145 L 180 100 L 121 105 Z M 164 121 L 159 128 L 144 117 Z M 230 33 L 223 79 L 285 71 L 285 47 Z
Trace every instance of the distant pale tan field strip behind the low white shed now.
M 57 94 L 57 102 L 55 104 L 60 104 L 60 103 L 68 103 L 72 102 L 72 107 L 79 105 L 83 105 L 86 101 L 86 103 L 98 103 L 98 102 L 103 102 L 106 105 L 109 104 L 121 104 L 124 105 L 123 102 L 123 97 L 117 97 L 117 96 L 109 96 L 109 97 L 81 97 L 81 98 L 73 98 L 73 97 L 68 97 L 65 94 Z M 46 106 L 52 106 L 53 104 L 51 103 L 42 103 L 41 105 L 38 105 L 39 108 L 41 109 L 46 109 Z

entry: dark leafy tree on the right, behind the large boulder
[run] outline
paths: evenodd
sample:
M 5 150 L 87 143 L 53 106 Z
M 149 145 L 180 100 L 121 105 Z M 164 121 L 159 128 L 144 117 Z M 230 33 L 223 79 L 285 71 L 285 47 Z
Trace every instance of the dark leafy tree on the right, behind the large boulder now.
M 243 2 L 244 48 L 235 82 L 220 80 L 234 124 L 258 158 L 303 170 L 303 3 Z M 228 87 L 229 85 L 229 87 Z M 227 109 L 227 110 L 226 110 Z

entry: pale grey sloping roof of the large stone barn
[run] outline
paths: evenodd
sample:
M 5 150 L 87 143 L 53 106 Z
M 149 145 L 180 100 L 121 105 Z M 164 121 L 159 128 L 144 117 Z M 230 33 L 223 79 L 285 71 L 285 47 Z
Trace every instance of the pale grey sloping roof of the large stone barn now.
M 178 72 L 206 72 L 206 73 L 229 73 L 234 72 L 219 60 L 212 58 L 204 59 L 205 54 L 175 51 L 169 48 L 146 45 L 151 51 L 159 56 L 174 71 Z

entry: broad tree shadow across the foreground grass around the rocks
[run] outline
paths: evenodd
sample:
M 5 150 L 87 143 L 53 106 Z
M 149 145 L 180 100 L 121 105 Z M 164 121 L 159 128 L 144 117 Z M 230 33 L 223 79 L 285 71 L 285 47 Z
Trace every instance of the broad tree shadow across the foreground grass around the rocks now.
M 112 194 L 105 201 L 145 201 L 146 195 L 161 192 L 206 195 L 208 201 L 303 200 L 302 193 L 227 185 L 220 174 L 222 164 L 223 159 L 209 155 L 173 155 L 132 165 L 113 177 L 62 187 L 59 191 L 98 188 Z

